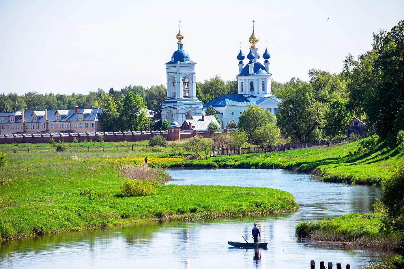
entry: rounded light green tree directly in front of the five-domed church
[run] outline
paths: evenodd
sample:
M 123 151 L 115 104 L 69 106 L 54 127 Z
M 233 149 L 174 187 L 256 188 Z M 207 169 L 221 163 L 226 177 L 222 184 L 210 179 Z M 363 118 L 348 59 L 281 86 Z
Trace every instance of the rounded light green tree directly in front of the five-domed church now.
M 267 125 L 271 125 L 271 127 Z M 238 127 L 245 131 L 248 138 L 256 145 L 258 145 L 259 141 L 262 142 L 259 136 L 262 135 L 263 129 L 279 129 L 276 126 L 276 117 L 271 112 L 263 110 L 258 105 L 250 106 L 241 113 L 238 120 Z

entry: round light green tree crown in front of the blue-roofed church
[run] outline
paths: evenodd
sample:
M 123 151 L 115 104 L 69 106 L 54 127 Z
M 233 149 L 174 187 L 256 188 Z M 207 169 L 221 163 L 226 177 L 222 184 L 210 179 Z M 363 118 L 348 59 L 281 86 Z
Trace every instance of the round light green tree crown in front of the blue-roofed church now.
M 238 127 L 256 145 L 273 144 L 279 138 L 276 117 L 258 105 L 248 107 L 239 117 Z

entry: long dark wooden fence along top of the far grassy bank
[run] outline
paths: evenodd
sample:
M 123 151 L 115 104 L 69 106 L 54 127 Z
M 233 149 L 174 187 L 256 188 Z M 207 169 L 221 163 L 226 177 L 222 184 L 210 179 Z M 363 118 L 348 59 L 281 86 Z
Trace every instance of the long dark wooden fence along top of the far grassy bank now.
M 330 146 L 335 144 L 340 144 L 346 138 L 341 139 L 324 139 L 318 140 L 315 142 L 307 142 L 307 143 L 291 143 L 291 144 L 278 144 L 271 145 L 267 147 L 254 147 L 254 148 L 215 148 L 215 156 L 222 155 L 239 155 L 239 154 L 247 154 L 247 153 L 268 153 L 268 152 L 278 152 L 284 150 L 298 150 L 302 148 L 311 148 L 318 146 Z

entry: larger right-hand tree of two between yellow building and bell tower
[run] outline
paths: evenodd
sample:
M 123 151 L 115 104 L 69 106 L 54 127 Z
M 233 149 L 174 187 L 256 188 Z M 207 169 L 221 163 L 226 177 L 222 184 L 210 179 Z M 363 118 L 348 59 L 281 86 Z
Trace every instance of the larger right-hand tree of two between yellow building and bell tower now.
M 149 121 L 145 115 L 146 103 L 139 94 L 128 92 L 123 102 L 120 117 L 124 119 L 125 131 L 143 131 L 149 128 Z

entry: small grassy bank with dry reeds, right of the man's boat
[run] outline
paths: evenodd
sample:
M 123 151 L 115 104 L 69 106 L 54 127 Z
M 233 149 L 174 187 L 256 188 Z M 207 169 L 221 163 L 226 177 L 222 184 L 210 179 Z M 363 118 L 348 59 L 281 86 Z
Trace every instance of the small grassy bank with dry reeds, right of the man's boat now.
M 381 215 L 351 213 L 322 221 L 303 221 L 296 234 L 312 241 L 341 242 L 367 248 L 394 249 L 400 246 L 400 233 L 382 234 Z

